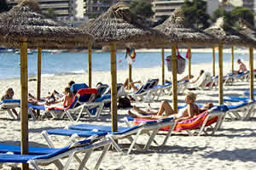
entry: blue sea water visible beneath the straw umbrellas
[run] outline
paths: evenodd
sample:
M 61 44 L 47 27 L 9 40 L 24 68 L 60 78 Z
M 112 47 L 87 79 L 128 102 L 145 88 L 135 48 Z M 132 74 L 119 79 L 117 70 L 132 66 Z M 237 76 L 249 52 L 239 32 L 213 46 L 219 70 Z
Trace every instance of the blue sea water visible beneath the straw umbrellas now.
M 171 53 L 165 53 L 165 56 Z M 186 52 L 181 52 L 185 58 Z M 28 54 L 28 74 L 29 76 L 37 75 L 37 52 Z M 216 56 L 216 65 L 218 65 L 218 53 Z M 254 59 L 255 59 L 254 55 Z M 236 59 L 248 60 L 247 54 L 235 54 Z M 231 55 L 224 54 L 224 61 L 230 61 Z M 81 74 L 86 73 L 88 68 L 87 53 L 61 53 L 50 54 L 42 53 L 42 77 Z M 191 64 L 212 63 L 212 53 L 193 53 Z M 92 54 L 92 71 L 110 71 L 110 54 L 93 53 Z M 161 53 L 137 52 L 136 61 L 133 68 L 149 68 L 161 65 Z M 125 60 L 125 53 L 117 53 L 117 70 L 125 70 L 128 63 Z M 0 53 L 0 79 L 20 77 L 20 54 Z

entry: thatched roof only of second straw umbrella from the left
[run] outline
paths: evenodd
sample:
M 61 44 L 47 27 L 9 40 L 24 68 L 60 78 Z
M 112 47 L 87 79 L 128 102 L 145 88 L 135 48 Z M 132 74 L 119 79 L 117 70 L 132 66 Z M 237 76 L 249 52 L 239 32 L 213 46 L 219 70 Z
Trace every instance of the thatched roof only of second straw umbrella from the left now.
M 117 42 L 118 46 L 131 43 L 133 47 L 154 47 L 156 44 L 165 43 L 175 35 L 166 36 L 147 26 L 147 20 L 132 14 L 129 7 L 119 2 L 108 8 L 108 11 L 92 20 L 84 30 L 87 30 L 96 39 L 96 44 L 108 45 Z

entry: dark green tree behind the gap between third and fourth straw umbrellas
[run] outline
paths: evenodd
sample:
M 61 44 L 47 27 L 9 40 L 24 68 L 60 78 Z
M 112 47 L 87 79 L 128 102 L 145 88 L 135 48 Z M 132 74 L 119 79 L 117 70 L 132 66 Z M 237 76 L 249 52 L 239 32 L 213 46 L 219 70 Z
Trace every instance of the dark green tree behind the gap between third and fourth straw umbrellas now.
M 207 2 L 204 0 L 185 0 L 183 6 L 185 15 L 185 26 L 195 28 L 207 28 L 210 26 L 208 20 L 210 15 L 207 14 Z

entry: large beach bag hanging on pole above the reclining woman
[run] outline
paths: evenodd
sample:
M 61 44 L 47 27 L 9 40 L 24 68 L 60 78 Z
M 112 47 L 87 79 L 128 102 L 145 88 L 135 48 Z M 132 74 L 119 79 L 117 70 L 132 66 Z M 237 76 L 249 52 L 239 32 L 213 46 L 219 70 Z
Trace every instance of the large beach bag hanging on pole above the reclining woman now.
M 172 55 L 166 57 L 168 71 L 172 71 Z M 186 68 L 186 59 L 184 59 L 177 50 L 177 74 L 183 74 Z

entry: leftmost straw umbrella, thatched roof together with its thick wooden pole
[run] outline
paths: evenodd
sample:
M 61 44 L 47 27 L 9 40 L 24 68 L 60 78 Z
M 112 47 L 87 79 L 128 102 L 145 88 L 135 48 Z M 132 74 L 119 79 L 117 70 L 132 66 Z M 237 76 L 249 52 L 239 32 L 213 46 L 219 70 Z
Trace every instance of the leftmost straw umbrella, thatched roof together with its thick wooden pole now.
M 38 3 L 33 0 L 22 1 L 9 12 L 0 15 L 0 39 L 3 44 L 20 48 L 21 154 L 28 153 L 27 46 L 36 48 L 38 44 L 40 50 L 44 42 L 54 43 L 55 45 L 51 45 L 51 48 L 57 47 L 56 44 L 66 42 L 67 44 L 93 42 L 93 37 L 89 34 L 69 26 L 60 26 L 57 23 L 44 17 Z M 22 167 L 27 168 L 27 165 L 23 164 Z

